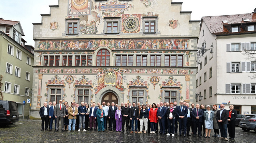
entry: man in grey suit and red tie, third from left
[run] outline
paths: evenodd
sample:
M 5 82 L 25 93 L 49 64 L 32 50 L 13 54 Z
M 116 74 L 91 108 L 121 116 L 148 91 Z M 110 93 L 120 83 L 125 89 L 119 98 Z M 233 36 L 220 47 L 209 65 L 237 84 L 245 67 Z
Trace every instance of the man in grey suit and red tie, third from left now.
M 54 115 L 55 118 L 57 118 L 57 126 L 55 131 L 59 131 L 59 120 L 61 122 L 61 131 L 64 131 L 64 118 L 66 115 L 66 107 L 62 105 L 62 100 L 59 100 L 59 104 L 56 105 Z

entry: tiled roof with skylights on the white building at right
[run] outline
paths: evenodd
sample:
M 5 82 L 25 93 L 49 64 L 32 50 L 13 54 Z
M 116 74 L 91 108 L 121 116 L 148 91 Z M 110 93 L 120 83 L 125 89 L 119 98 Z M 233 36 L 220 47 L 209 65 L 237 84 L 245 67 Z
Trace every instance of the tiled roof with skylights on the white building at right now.
M 250 21 L 244 21 L 243 19 L 249 19 Z M 236 14 L 236 15 L 223 15 L 223 16 L 207 16 L 202 17 L 202 21 L 205 22 L 209 31 L 212 34 L 228 34 L 230 33 L 225 28 L 225 25 L 230 24 L 242 24 L 249 22 L 256 22 L 256 13 L 248 14 Z M 228 21 L 228 23 L 223 23 L 223 21 Z M 202 24 L 202 23 L 201 23 Z

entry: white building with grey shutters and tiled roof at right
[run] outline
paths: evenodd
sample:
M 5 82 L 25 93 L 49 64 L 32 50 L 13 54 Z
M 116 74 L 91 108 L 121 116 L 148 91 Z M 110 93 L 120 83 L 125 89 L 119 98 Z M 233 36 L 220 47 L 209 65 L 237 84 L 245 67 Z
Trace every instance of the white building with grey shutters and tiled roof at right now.
M 256 113 L 256 9 L 252 13 L 202 17 L 198 47 L 211 50 L 198 60 L 197 103 L 234 105 L 239 114 Z M 250 58 L 250 56 L 254 58 Z

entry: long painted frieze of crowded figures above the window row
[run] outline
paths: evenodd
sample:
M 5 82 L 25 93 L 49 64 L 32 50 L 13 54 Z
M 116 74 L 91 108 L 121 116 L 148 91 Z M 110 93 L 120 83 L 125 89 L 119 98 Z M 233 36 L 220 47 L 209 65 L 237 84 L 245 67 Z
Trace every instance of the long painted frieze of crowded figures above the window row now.
M 39 50 L 97 50 L 108 47 L 111 50 L 187 50 L 192 49 L 190 39 L 77 39 L 42 40 Z

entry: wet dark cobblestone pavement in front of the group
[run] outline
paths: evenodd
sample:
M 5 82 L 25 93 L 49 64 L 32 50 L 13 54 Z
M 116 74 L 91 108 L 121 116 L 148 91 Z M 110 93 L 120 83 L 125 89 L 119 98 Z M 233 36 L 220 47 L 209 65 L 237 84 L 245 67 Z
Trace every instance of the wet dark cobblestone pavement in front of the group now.
M 60 125 L 61 126 L 61 125 Z M 53 125 L 54 127 L 54 125 Z M 40 131 L 41 120 L 20 120 L 17 123 L 0 128 L 0 142 L 89 142 L 89 143 L 159 143 L 159 142 L 187 142 L 187 143 L 254 143 L 256 133 L 253 130 L 249 132 L 243 131 L 240 127 L 236 127 L 236 138 L 234 140 L 224 141 L 218 138 L 198 138 L 198 137 L 167 137 L 152 133 L 120 133 L 113 131 L 81 131 L 81 132 L 54 132 Z

